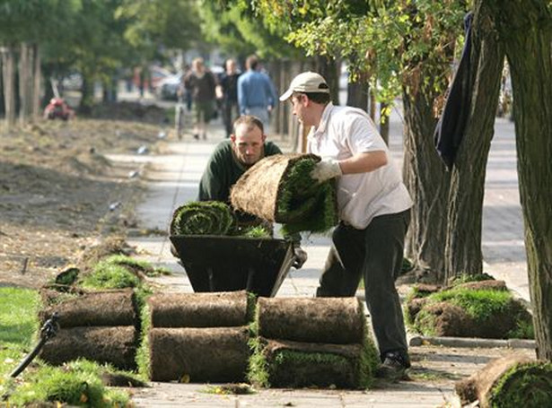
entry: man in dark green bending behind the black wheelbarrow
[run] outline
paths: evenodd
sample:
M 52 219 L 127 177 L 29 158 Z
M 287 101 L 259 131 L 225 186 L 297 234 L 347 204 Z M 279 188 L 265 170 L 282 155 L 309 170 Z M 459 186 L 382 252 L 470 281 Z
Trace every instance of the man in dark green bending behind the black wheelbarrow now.
M 258 117 L 245 115 L 233 124 L 230 140 L 224 140 L 215 147 L 207 161 L 206 169 L 199 182 L 199 201 L 222 201 L 230 205 L 230 190 L 241 175 L 255 163 L 267 156 L 282 154 L 280 148 L 267 142 L 263 123 Z M 241 227 L 264 224 L 257 217 L 237 213 Z M 270 229 L 272 226 L 270 226 Z M 300 246 L 301 236 L 290 237 L 294 241 L 294 267 L 299 269 L 307 260 L 307 253 Z

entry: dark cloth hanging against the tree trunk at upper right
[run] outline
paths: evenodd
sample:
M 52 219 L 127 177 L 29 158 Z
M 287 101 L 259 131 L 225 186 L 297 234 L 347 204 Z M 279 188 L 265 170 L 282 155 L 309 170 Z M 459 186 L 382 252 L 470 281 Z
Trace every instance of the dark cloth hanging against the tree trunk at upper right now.
M 471 62 L 469 61 L 469 54 L 471 50 L 472 21 L 473 13 L 469 12 L 464 17 L 466 40 L 462 49 L 460 64 L 449 88 L 442 115 L 437 122 L 437 126 L 435 126 L 435 148 L 448 169 L 452 169 L 456 152 L 458 152 L 462 138 L 466 133 L 466 124 L 469 117 L 471 104 L 471 87 L 469 86 Z

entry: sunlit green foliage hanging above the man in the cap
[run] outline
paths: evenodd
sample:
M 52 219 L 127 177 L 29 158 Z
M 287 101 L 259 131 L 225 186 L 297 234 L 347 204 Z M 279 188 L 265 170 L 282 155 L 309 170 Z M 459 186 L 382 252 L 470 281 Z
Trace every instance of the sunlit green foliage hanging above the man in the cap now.
M 429 81 L 440 91 L 446 88 L 466 11 L 461 0 L 255 0 L 253 4 L 268 27 L 287 31 L 285 39 L 309 55 L 345 59 L 353 81 L 370 73 L 380 99 L 387 102 L 399 95 L 401 86 L 413 94 Z

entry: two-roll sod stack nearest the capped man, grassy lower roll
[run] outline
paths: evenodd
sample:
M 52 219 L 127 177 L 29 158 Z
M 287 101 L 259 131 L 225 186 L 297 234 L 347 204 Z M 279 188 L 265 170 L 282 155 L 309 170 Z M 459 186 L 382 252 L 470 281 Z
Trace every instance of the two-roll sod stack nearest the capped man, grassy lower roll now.
M 258 386 L 366 388 L 378 355 L 355 298 L 259 298 L 249 379 Z

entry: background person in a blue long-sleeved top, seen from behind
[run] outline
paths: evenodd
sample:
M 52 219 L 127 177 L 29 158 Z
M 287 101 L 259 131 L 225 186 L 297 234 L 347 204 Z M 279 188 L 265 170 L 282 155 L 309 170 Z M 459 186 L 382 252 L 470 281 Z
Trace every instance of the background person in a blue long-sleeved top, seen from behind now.
M 249 56 L 245 65 L 247 72 L 238 79 L 240 113 L 258 117 L 267 129 L 277 100 L 276 89 L 268 75 L 260 72 L 257 56 Z

